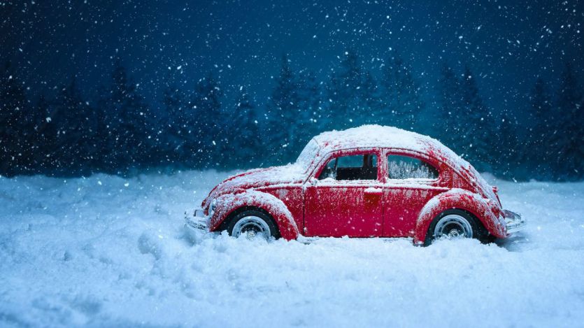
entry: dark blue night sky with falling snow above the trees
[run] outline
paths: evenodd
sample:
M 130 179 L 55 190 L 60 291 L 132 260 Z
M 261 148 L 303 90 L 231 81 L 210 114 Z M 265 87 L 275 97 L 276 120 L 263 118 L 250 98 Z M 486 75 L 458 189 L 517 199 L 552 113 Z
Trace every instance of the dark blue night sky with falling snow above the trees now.
M 1 57 L 29 93 L 50 94 L 75 75 L 94 97 L 120 57 L 157 99 L 169 78 L 192 87 L 206 71 L 229 95 L 269 97 L 280 55 L 327 81 L 346 50 L 367 68 L 410 62 L 432 101 L 442 63 L 468 63 L 499 110 L 520 106 L 536 76 L 555 83 L 562 62 L 582 76 L 582 1 L 7 1 Z M 180 69 L 178 69 L 180 67 Z

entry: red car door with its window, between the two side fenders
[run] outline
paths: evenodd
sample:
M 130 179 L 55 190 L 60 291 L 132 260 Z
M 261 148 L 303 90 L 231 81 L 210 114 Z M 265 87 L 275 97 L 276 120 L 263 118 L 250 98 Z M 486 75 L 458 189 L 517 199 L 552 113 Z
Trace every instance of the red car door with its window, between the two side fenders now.
M 308 180 L 304 197 L 306 236 L 380 236 L 383 185 L 380 152 L 336 152 Z

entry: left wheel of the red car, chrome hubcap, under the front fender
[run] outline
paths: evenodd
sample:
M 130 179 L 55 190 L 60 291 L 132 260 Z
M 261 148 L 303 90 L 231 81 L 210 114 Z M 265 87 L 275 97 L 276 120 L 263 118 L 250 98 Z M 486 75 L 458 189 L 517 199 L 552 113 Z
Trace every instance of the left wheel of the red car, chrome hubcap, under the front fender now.
M 246 210 L 234 215 L 227 226 L 229 236 L 245 236 L 249 240 L 278 238 L 280 234 L 276 222 L 270 215 L 258 210 Z

